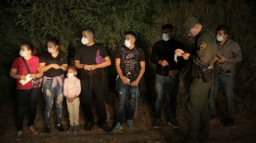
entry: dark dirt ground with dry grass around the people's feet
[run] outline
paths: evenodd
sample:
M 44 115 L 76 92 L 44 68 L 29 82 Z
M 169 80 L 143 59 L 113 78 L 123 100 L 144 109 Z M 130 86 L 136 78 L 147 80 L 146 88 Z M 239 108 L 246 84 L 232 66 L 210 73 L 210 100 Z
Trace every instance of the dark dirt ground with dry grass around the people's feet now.
M 236 98 L 237 113 L 235 115 L 235 125 L 232 127 L 223 126 L 221 119 L 225 111 L 218 111 L 216 119 L 210 122 L 209 142 L 256 142 L 256 96 L 239 95 Z M 181 101 L 179 100 L 179 103 Z M 67 129 L 68 113 L 63 103 L 63 126 Z M 113 105 L 113 104 L 111 104 Z M 40 130 L 38 134 L 27 132 L 24 119 L 24 137 L 22 141 L 16 140 L 16 128 L 14 126 L 14 103 L 0 105 L 0 142 L 183 142 L 186 136 L 185 104 L 178 105 L 177 120 L 181 127 L 174 129 L 166 124 L 165 115 L 162 115 L 160 129 L 153 129 L 151 126 L 152 115 L 147 104 L 140 104 L 135 116 L 135 129 L 128 129 L 124 124 L 124 129 L 120 132 L 105 132 L 97 124 L 92 131 L 85 131 L 83 126 L 85 120 L 82 109 L 80 108 L 80 132 L 73 134 L 58 132 L 54 127 L 55 110 L 52 111 L 52 130 L 51 134 L 43 134 L 44 127 L 44 101 L 40 98 L 37 107 L 35 126 Z M 53 107 L 54 108 L 54 107 Z M 107 122 L 112 127 L 114 124 L 115 106 L 107 105 Z M 223 109 L 223 107 L 220 107 Z M 163 111 L 164 112 L 164 111 Z M 164 113 L 163 113 L 164 114 Z

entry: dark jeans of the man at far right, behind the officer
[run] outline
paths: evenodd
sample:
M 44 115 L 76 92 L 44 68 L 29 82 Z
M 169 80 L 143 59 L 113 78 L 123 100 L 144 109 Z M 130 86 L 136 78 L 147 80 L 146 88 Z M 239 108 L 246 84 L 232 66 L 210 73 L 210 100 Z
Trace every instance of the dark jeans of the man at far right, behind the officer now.
M 209 90 L 209 106 L 210 115 L 215 115 L 215 101 L 216 95 L 220 85 L 223 87 L 225 94 L 225 101 L 227 103 L 228 118 L 234 118 L 234 99 L 233 99 L 233 75 L 231 73 L 215 74 L 214 82 Z

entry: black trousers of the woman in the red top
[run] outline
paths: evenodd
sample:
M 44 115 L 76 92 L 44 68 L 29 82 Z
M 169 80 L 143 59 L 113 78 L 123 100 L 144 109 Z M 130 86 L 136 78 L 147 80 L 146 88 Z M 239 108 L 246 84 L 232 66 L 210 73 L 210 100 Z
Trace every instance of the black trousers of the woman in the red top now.
M 28 108 L 27 126 L 32 126 L 36 118 L 37 101 L 41 94 L 40 88 L 16 90 L 17 130 L 22 131 L 26 107 Z

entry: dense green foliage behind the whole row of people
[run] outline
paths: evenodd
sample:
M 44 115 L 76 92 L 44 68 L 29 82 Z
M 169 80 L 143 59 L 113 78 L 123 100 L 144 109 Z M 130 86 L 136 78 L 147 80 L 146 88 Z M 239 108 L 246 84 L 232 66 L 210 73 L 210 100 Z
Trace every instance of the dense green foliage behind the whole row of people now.
M 134 30 L 137 45 L 144 49 L 147 58 L 146 83 L 152 90 L 154 66 L 149 62 L 152 44 L 161 38 L 160 27 L 171 23 L 175 27 L 175 38 L 188 47 L 193 39 L 183 39 L 182 23 L 190 16 L 198 18 L 210 30 L 219 24 L 230 27 L 230 37 L 242 47 L 243 62 L 237 67 L 235 79 L 239 88 L 255 85 L 255 15 L 254 2 L 230 0 L 21 0 L 6 2 L 1 6 L 1 96 L 6 98 L 14 89 L 8 72 L 14 58 L 18 57 L 19 44 L 28 40 L 36 45 L 40 54 L 46 48 L 46 40 L 57 37 L 61 49 L 73 59 L 75 48 L 80 44 L 81 30 L 92 27 L 96 30 L 96 42 L 103 43 L 112 60 L 107 69 L 110 90 L 114 88 L 115 49 L 124 43 L 124 32 Z M 254 10 L 255 11 L 255 10 Z M 72 60 L 69 60 L 72 63 Z M 106 71 L 105 71 L 106 72 Z M 111 85 L 111 86 L 110 86 Z

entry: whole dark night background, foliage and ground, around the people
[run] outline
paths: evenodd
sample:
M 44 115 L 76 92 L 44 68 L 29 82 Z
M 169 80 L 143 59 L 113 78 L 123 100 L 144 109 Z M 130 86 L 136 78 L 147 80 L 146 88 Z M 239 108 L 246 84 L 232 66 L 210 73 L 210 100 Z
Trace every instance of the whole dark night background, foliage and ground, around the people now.
M 96 42 L 102 43 L 110 54 L 112 65 L 104 70 L 106 93 L 109 97 L 107 105 L 108 122 L 114 122 L 115 98 L 115 63 L 116 48 L 124 43 L 124 32 L 134 30 L 138 37 L 136 44 L 144 49 L 146 55 L 146 93 L 141 94 L 134 131 L 120 134 L 105 134 L 100 129 L 90 133 L 82 130 L 84 123 L 81 112 L 81 132 L 73 136 L 73 140 L 63 133 L 53 131 L 50 135 L 29 135 L 28 142 L 179 142 L 186 134 L 185 100 L 188 89 L 189 63 L 181 72 L 181 86 L 178 96 L 178 119 L 181 129 L 163 127 L 152 130 L 151 103 L 154 103 L 155 66 L 149 62 L 152 45 L 161 39 L 161 25 L 174 25 L 174 38 L 183 42 L 190 50 L 193 38 L 184 39 L 182 23 L 188 17 L 198 18 L 201 23 L 215 33 L 220 24 L 230 28 L 229 38 L 239 43 L 243 60 L 237 64 L 234 75 L 234 97 L 236 105 L 236 125 L 227 129 L 219 121 L 211 122 L 210 140 L 213 142 L 253 142 L 255 141 L 255 78 L 256 78 L 256 2 L 247 0 L 22 0 L 1 1 L 0 11 L 0 139 L 14 142 L 15 80 L 9 76 L 11 64 L 19 56 L 19 44 L 28 41 L 37 48 L 37 56 L 46 50 L 46 40 L 57 37 L 61 40 L 61 50 L 68 54 L 68 63 L 73 64 L 77 45 L 81 44 L 81 29 L 95 29 Z M 219 93 L 218 116 L 225 114 L 223 94 Z M 63 106 L 65 106 L 63 102 Z M 166 103 L 165 103 L 166 105 Z M 43 128 L 43 96 L 38 103 L 36 124 Z M 66 108 L 63 109 L 63 122 L 68 121 Z M 166 111 L 164 111 L 165 115 Z M 55 111 L 52 112 L 55 118 Z M 163 115 L 163 119 L 164 118 Z M 7 120 L 6 120 L 7 119 Z M 53 120 L 54 121 L 54 120 Z M 26 121 L 25 121 L 26 122 Z M 54 123 L 53 123 L 54 124 Z M 63 123 L 66 124 L 66 123 Z M 166 125 L 163 121 L 162 124 Z M 97 128 L 97 127 L 96 127 Z M 97 133 L 97 134 L 96 134 Z M 61 133 L 62 134 L 62 133 Z M 141 134 L 140 136 L 137 136 Z M 86 135 L 86 136 L 83 136 Z M 150 136 L 146 138 L 146 136 Z M 126 136 L 126 137 L 124 137 Z M 116 137 L 116 138 L 115 138 Z M 121 139 L 120 139 L 121 138 Z

